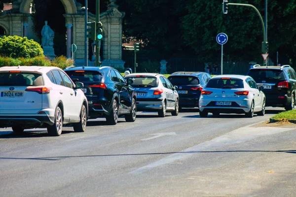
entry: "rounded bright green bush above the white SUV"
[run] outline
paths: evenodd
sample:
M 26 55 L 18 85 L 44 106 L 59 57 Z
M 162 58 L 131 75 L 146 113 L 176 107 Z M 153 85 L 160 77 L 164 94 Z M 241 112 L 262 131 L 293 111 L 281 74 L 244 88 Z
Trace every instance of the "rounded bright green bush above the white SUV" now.
M 40 44 L 27 37 L 3 36 L 0 38 L 0 56 L 10 58 L 34 58 L 44 56 Z

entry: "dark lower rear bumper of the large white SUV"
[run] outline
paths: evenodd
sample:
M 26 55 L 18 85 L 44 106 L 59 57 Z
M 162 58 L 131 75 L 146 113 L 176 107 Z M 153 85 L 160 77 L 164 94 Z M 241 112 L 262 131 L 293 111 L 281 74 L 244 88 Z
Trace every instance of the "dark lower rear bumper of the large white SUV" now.
M 25 128 L 37 128 L 54 124 L 54 116 L 47 115 L 0 115 L 0 128 L 22 125 Z

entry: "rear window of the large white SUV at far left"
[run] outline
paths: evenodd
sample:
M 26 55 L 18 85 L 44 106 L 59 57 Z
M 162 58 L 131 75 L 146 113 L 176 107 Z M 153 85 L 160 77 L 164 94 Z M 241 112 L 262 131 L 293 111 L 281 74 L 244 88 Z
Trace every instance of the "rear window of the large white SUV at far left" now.
M 32 72 L 0 72 L 0 86 L 43 86 L 41 74 Z

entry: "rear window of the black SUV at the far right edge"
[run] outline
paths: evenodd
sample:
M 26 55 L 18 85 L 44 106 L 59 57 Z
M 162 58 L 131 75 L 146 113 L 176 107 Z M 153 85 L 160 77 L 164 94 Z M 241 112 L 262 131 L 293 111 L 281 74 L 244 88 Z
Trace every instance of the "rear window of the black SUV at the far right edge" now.
M 255 81 L 286 78 L 284 71 L 279 69 L 251 69 L 247 75 L 252 77 Z

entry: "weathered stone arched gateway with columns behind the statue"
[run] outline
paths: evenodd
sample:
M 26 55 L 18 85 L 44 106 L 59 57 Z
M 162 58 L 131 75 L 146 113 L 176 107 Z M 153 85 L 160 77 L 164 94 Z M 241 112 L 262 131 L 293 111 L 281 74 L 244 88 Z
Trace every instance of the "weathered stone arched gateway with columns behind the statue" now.
M 33 31 L 32 1 L 16 0 L 8 10 L 0 12 L 0 36 L 18 35 L 34 39 L 40 43 L 40 39 Z M 76 65 L 84 64 L 84 11 L 76 0 L 60 0 L 65 8 L 65 26 L 67 27 L 67 57 L 72 57 L 71 44 L 77 46 L 74 53 Z M 110 0 L 106 12 L 100 13 L 100 21 L 103 23 L 102 65 L 123 67 L 122 61 L 122 19 L 124 12 L 118 11 L 116 0 Z M 9 5 L 5 6 L 9 7 Z M 54 13 L 53 13 L 54 14 Z M 88 14 L 88 22 L 95 21 L 95 15 Z M 49 24 L 50 25 L 50 24 Z M 66 43 L 65 43 L 66 44 Z M 89 47 L 87 47 L 89 48 Z M 92 53 L 92 51 L 88 51 Z M 90 63 L 90 65 L 92 65 Z

